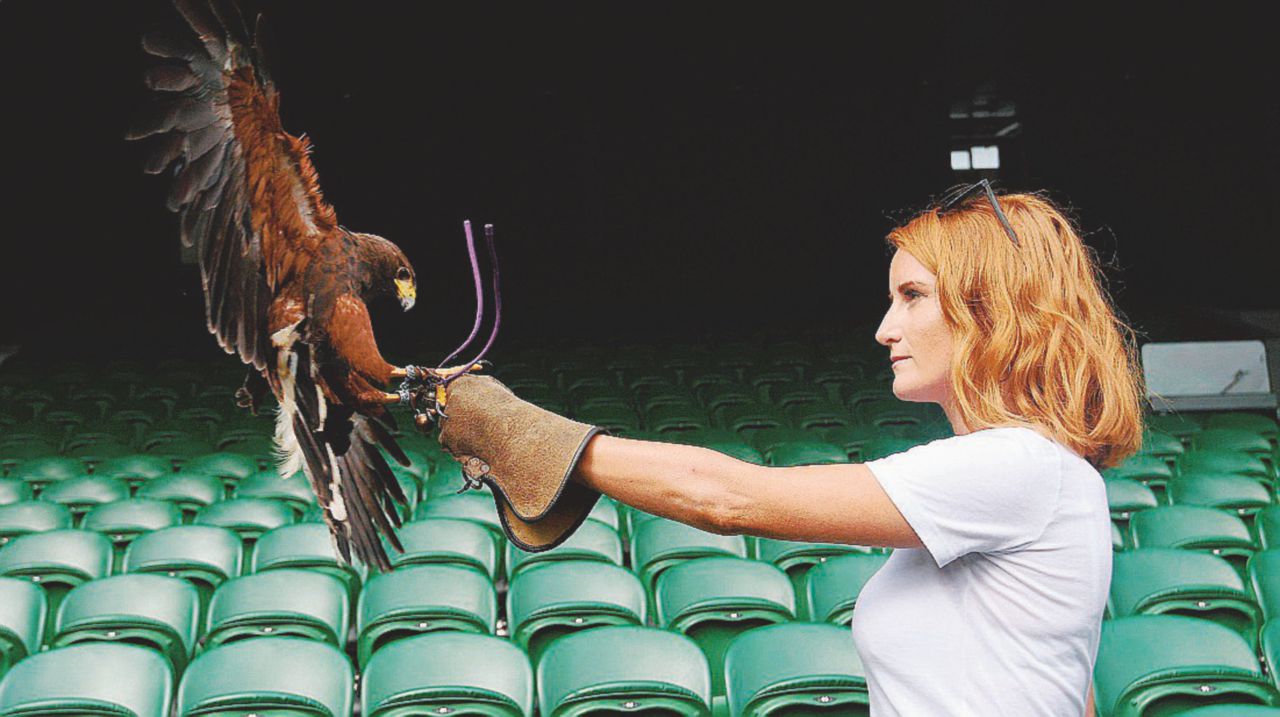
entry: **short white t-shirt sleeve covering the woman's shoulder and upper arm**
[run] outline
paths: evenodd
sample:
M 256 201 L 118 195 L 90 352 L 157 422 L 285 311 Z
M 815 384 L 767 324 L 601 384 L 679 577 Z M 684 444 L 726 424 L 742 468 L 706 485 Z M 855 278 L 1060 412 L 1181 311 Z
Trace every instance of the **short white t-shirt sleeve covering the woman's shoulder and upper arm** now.
M 938 567 L 1024 547 L 1057 508 L 1056 446 L 1030 429 L 974 431 L 867 463 Z

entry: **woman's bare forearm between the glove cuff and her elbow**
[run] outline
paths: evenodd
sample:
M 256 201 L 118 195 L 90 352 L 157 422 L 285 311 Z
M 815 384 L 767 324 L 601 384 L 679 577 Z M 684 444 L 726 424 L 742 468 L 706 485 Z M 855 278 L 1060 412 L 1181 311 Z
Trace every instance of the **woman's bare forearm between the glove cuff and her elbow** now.
M 728 487 L 758 470 L 699 446 L 596 435 L 573 480 L 648 513 L 723 534 Z

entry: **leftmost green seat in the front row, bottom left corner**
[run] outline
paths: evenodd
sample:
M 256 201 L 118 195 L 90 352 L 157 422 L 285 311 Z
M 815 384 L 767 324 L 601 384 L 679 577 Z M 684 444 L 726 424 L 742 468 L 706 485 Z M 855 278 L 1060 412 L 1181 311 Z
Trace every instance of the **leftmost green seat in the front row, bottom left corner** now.
M 0 680 L 0 714 L 168 717 L 173 672 L 159 653 L 93 643 L 32 656 Z

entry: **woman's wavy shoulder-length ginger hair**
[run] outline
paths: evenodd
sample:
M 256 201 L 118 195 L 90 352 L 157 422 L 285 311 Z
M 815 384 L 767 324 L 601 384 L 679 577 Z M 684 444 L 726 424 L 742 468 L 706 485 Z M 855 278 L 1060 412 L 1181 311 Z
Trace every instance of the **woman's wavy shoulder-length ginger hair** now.
M 1142 374 L 1094 254 L 1039 195 L 978 195 L 890 232 L 938 282 L 951 387 L 970 429 L 1039 426 L 1098 469 L 1142 444 Z

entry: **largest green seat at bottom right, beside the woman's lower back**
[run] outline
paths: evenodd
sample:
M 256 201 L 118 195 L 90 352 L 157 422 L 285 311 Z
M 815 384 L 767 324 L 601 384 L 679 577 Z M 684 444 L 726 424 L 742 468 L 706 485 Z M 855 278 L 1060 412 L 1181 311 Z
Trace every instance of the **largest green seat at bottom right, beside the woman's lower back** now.
M 1103 621 L 1093 680 L 1098 713 L 1112 717 L 1181 714 L 1192 707 L 1274 704 L 1277 699 L 1240 635 L 1181 615 Z

